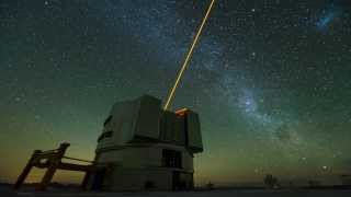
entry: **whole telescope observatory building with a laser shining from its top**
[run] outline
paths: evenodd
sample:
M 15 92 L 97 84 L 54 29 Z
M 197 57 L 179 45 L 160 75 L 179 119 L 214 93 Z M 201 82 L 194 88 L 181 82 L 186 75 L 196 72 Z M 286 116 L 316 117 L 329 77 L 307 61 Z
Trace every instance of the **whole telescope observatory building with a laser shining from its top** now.
M 203 151 L 199 115 L 186 108 L 163 111 L 144 95 L 117 102 L 98 139 L 88 188 L 179 190 L 193 188 L 193 158 Z

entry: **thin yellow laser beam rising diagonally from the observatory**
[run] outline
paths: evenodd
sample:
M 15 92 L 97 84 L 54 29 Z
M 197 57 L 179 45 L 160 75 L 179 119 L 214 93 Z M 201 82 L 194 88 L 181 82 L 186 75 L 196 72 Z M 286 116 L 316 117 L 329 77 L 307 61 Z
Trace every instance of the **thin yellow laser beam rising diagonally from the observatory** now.
M 174 82 L 174 84 L 173 84 L 173 86 L 172 86 L 172 89 L 171 89 L 171 91 L 170 91 L 170 93 L 169 93 L 169 96 L 168 96 L 168 99 L 167 99 L 167 102 L 166 102 L 166 104 L 165 104 L 165 106 L 163 106 L 163 109 L 165 109 L 165 111 L 168 109 L 168 107 L 169 107 L 172 99 L 174 97 L 176 89 L 178 88 L 178 84 L 179 84 L 179 82 L 180 82 L 180 79 L 181 79 L 181 77 L 182 77 L 182 74 L 183 74 L 183 72 L 184 72 L 184 70 L 185 70 L 185 68 L 186 68 L 186 66 L 188 66 L 188 61 L 190 60 L 190 58 L 191 58 L 191 56 L 192 56 L 192 54 L 193 54 L 194 47 L 195 47 L 195 45 L 196 45 L 196 43 L 197 43 L 197 39 L 199 39 L 199 37 L 200 37 L 200 35 L 201 35 L 201 32 L 202 32 L 202 30 L 203 30 L 203 27 L 204 27 L 204 25 L 205 25 L 205 23 L 206 23 L 206 21 L 207 21 L 207 18 L 208 18 L 208 15 L 210 15 L 210 12 L 211 12 L 214 3 L 215 3 L 215 0 L 212 0 L 210 7 L 208 7 L 208 9 L 207 9 L 207 12 L 206 12 L 204 19 L 202 20 L 202 23 L 201 23 L 201 25 L 200 25 L 200 27 L 199 27 L 199 30 L 197 30 L 197 33 L 196 33 L 196 35 L 195 35 L 195 37 L 194 37 L 194 40 L 193 40 L 193 43 L 192 43 L 192 45 L 191 45 L 191 47 L 190 47 L 190 49 L 189 49 L 189 51 L 188 51 L 188 55 L 186 55 L 186 57 L 185 57 L 185 60 L 184 60 L 184 62 L 183 62 L 180 71 L 178 72 L 176 82 Z

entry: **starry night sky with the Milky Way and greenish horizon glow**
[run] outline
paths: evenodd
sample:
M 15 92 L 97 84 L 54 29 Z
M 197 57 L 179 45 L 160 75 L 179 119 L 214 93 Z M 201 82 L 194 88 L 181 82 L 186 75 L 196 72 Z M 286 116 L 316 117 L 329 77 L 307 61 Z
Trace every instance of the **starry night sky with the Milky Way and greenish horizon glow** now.
M 165 100 L 208 3 L 1 0 L 0 181 L 60 141 L 93 159 L 114 102 Z M 349 0 L 216 1 L 171 107 L 201 117 L 196 184 L 351 174 L 350 10 Z

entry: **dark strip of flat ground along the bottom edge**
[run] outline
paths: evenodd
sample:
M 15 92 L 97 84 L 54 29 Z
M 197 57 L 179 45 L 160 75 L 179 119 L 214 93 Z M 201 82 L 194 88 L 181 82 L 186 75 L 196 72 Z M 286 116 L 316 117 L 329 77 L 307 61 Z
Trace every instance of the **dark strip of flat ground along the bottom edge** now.
M 143 192 L 143 193 L 92 193 L 92 192 L 77 192 L 77 190 L 47 190 L 35 193 L 33 190 L 19 190 L 14 192 L 9 187 L 0 188 L 1 197 L 34 197 L 34 196 L 48 196 L 48 197 L 350 197 L 351 189 L 214 189 L 214 190 L 197 190 L 197 192 Z

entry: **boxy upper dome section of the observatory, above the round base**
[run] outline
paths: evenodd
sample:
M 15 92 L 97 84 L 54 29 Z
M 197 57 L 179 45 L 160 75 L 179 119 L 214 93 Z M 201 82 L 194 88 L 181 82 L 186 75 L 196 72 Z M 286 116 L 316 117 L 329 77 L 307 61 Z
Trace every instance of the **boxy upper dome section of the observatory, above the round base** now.
M 98 149 L 125 146 L 131 142 L 158 141 L 188 147 L 193 153 L 202 152 L 199 115 L 192 111 L 180 115 L 162 111 L 160 100 L 140 96 L 113 105 L 99 138 Z

